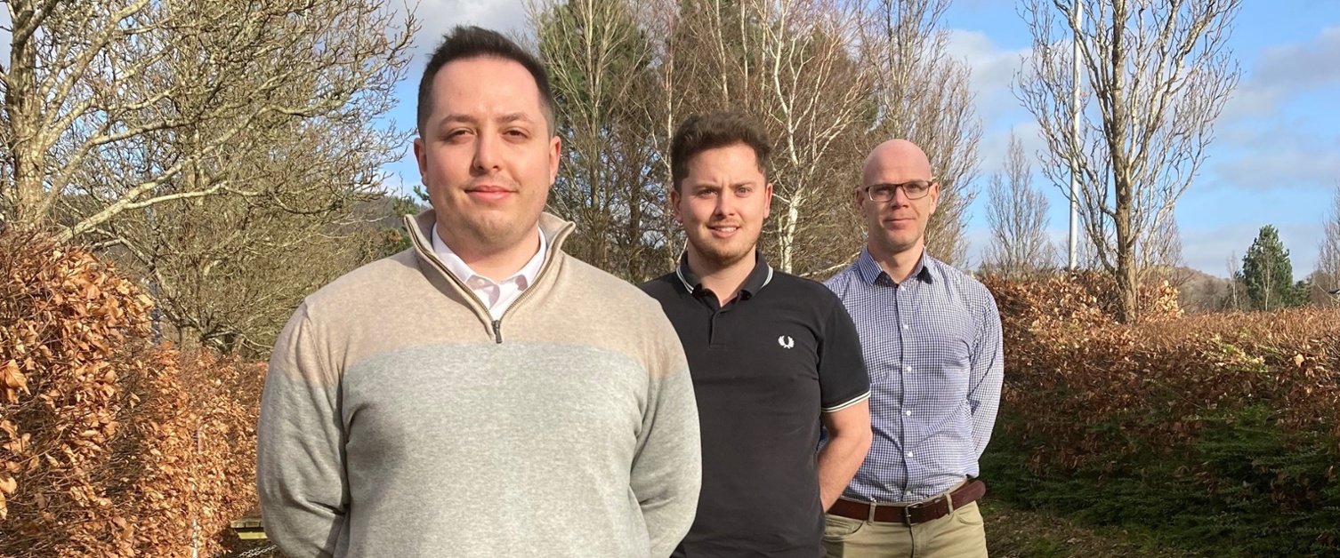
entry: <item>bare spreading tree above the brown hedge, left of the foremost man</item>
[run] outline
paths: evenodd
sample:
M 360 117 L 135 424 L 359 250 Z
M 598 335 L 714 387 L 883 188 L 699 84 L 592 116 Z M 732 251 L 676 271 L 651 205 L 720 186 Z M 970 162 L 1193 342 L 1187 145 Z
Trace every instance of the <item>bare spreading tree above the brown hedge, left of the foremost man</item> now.
M 7 218 L 117 258 L 180 341 L 264 353 L 375 252 L 368 203 L 406 139 L 377 118 L 413 17 L 374 0 L 9 7 Z

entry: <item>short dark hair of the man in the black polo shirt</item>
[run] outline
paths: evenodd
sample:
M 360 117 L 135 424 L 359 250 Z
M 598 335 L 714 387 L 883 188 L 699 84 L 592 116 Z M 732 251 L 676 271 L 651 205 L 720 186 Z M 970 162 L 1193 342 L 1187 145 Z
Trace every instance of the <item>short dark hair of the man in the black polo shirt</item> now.
M 689 175 L 689 159 L 710 149 L 744 143 L 753 149 L 758 170 L 768 175 L 768 154 L 772 143 L 749 115 L 741 112 L 708 112 L 689 116 L 674 131 L 670 141 L 670 182 L 679 191 L 679 183 Z

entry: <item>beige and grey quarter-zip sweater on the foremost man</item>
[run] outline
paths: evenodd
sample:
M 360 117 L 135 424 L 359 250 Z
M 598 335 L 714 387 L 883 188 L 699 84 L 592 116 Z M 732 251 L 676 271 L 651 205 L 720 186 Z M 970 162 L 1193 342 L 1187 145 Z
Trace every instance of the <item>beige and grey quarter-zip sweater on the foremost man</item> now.
M 257 428 L 267 534 L 307 557 L 667 557 L 701 450 L 659 304 L 561 252 L 498 318 L 414 248 L 308 296 Z

